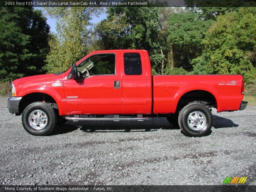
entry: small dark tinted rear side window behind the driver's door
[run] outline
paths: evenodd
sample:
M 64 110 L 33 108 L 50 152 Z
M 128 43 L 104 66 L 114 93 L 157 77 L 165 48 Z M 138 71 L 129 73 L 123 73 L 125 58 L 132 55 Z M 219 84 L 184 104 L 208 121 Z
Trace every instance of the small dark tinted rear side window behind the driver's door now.
M 141 75 L 140 53 L 124 53 L 124 73 L 125 75 Z

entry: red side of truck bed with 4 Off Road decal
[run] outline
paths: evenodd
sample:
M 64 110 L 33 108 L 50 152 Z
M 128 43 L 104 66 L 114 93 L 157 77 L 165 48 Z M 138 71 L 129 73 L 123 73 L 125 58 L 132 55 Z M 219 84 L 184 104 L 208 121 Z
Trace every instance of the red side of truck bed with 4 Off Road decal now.
M 180 99 L 193 97 L 195 90 L 212 95 L 217 112 L 239 110 L 243 99 L 241 75 L 155 75 L 152 81 L 155 114 L 175 113 Z

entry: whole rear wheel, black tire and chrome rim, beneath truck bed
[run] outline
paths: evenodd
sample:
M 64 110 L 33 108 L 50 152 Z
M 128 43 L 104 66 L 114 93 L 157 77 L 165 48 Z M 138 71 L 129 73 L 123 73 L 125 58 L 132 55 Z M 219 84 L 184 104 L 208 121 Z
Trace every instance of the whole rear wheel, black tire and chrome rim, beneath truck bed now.
M 213 116 L 205 105 L 190 103 L 180 111 L 178 122 L 180 129 L 187 136 L 201 137 L 211 131 Z

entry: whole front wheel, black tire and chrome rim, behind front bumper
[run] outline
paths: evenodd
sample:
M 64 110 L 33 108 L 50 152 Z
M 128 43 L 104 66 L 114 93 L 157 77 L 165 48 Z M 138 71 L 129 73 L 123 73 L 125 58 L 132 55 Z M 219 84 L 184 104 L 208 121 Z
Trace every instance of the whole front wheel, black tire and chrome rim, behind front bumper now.
M 56 124 L 56 113 L 51 106 L 43 102 L 31 103 L 22 113 L 22 125 L 31 135 L 49 135 Z

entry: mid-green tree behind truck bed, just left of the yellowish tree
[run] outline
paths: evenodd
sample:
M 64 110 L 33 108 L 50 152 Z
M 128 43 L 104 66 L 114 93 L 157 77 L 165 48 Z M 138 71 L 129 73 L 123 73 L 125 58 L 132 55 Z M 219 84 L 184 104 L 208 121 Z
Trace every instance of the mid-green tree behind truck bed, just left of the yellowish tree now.
M 191 71 L 191 60 L 201 55 L 203 39 L 213 20 L 202 20 L 193 12 L 173 13 L 169 18 L 167 42 L 173 50 L 172 67 Z

